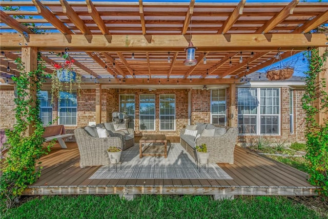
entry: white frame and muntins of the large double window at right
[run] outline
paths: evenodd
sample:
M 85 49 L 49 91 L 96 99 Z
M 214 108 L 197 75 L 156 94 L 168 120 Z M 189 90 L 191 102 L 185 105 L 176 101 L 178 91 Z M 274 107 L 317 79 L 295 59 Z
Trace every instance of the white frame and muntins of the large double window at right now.
M 257 89 L 257 100 L 258 100 L 258 106 L 257 106 L 257 113 L 256 114 L 239 114 L 238 112 L 238 105 L 237 105 L 237 122 L 238 122 L 238 117 L 239 115 L 242 116 L 252 116 L 256 115 L 256 133 L 238 133 L 238 135 L 281 135 L 281 89 L 277 87 L 238 87 L 237 89 L 240 88 L 249 88 L 249 89 Z M 261 114 L 261 103 L 260 103 L 260 98 L 261 98 L 261 89 L 278 89 L 278 97 L 279 97 L 279 114 Z M 261 133 L 261 116 L 278 116 L 278 133 L 276 134 L 262 134 Z M 239 127 L 239 124 L 238 124 Z

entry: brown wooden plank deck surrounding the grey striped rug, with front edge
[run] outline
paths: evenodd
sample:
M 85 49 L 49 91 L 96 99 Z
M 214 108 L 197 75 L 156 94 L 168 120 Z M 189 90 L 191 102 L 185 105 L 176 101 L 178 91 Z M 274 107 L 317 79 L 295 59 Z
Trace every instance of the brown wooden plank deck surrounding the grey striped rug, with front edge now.
M 138 142 L 136 138 L 136 142 Z M 179 137 L 170 137 L 179 142 Z M 317 195 L 307 174 L 279 162 L 236 147 L 235 163 L 218 164 L 233 180 L 197 179 L 113 179 L 89 180 L 99 168 L 79 167 L 75 142 L 59 145 L 42 158 L 39 180 L 24 195 L 50 194 L 205 194 L 205 195 Z

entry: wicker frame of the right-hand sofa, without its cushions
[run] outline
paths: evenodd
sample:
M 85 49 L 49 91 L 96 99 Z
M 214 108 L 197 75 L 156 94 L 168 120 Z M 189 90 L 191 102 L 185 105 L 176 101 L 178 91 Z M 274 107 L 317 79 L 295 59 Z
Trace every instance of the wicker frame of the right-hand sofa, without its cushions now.
M 209 124 L 212 127 L 220 127 L 225 128 L 227 130 L 226 133 L 219 136 L 200 136 L 196 138 L 193 136 L 186 136 L 185 130 L 183 128 L 180 130 L 180 143 L 186 151 L 196 159 L 196 151 L 195 146 L 206 144 L 208 151 L 210 152 L 209 162 L 210 163 L 234 163 L 234 149 L 238 136 L 238 129 L 234 127 L 222 126 L 217 124 Z M 205 129 L 207 124 L 197 125 L 198 133 L 201 132 L 202 129 Z

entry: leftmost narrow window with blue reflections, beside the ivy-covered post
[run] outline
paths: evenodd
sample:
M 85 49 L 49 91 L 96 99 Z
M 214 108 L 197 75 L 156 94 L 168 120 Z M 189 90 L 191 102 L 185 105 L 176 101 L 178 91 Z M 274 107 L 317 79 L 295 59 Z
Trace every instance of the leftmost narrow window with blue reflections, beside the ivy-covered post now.
M 37 98 L 40 101 L 40 119 L 44 126 L 52 123 L 51 94 L 48 91 L 39 91 Z

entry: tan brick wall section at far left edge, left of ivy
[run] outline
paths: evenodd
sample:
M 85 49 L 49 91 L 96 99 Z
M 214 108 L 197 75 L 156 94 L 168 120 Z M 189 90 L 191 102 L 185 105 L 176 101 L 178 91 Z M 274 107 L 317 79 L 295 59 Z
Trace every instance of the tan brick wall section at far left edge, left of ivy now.
M 12 128 L 15 124 L 15 102 L 13 89 L 0 89 L 0 129 Z

